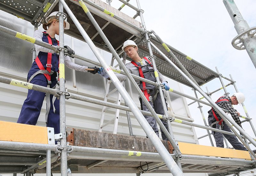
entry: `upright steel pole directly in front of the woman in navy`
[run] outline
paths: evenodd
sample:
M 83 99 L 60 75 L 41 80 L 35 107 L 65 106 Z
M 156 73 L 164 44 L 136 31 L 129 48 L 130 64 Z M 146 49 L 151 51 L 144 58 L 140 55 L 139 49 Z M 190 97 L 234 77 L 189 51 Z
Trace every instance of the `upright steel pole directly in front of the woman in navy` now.
M 59 2 L 59 69 L 60 69 L 60 139 L 61 153 L 60 153 L 60 173 L 61 176 L 68 176 L 68 163 L 67 163 L 67 137 L 66 137 L 66 109 L 65 109 L 65 65 L 64 65 L 64 20 L 63 20 L 63 5 Z

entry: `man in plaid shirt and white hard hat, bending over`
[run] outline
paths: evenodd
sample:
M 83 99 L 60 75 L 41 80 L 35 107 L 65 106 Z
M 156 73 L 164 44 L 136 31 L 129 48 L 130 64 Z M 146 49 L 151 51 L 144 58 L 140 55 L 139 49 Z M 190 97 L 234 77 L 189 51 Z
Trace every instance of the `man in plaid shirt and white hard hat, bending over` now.
M 238 103 L 241 104 L 245 100 L 244 94 L 241 92 L 234 93 L 231 97 L 229 96 L 222 96 L 220 97 L 215 103 L 223 109 L 226 109 L 229 111 L 229 114 L 232 116 L 232 118 L 235 120 L 235 122 L 242 127 L 241 121 L 239 119 L 240 113 L 236 111 L 236 109 L 233 108 L 232 105 L 237 105 Z M 208 123 L 211 127 L 216 129 L 221 129 L 227 132 L 232 132 L 231 129 L 228 127 L 228 125 L 222 120 L 220 115 L 215 111 L 215 109 L 211 109 L 208 111 Z M 220 132 L 214 132 L 212 131 L 212 135 L 214 136 L 216 147 L 222 147 L 224 148 L 223 143 L 223 135 L 228 140 L 228 142 L 237 150 L 247 150 L 242 143 L 240 143 L 236 136 L 224 134 Z

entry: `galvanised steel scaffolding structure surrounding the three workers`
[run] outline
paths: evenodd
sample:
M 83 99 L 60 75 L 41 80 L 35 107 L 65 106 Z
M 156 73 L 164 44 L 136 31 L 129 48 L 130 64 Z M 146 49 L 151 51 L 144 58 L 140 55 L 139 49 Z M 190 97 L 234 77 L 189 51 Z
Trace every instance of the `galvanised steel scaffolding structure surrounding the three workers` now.
M 32 137 L 31 141 L 27 141 L 25 139 L 17 139 L 19 136 L 19 131 L 13 134 L 8 138 L 1 139 L 0 141 L 0 149 L 1 149 L 1 161 L 4 161 L 0 166 L 0 172 L 3 173 L 24 173 L 26 175 L 31 175 L 32 173 L 46 173 L 47 176 L 50 176 L 52 172 L 60 172 L 61 175 L 67 176 L 72 173 L 136 173 L 140 175 L 140 173 L 144 172 L 171 172 L 174 176 L 184 175 L 185 172 L 212 172 L 212 176 L 218 175 L 227 175 L 227 174 L 237 174 L 244 170 L 250 170 L 255 168 L 255 154 L 251 150 L 249 143 L 256 147 L 256 141 L 250 135 L 248 135 L 239 125 L 237 125 L 232 118 L 230 118 L 225 112 L 227 110 L 221 109 L 218 107 L 214 101 L 211 100 L 211 95 L 213 92 L 217 92 L 221 89 L 224 90 L 225 94 L 228 95 L 228 92 L 225 87 L 229 85 L 233 85 L 236 92 L 238 92 L 235 81 L 230 75 L 230 79 L 222 76 L 218 69 L 216 68 L 216 72 L 203 66 L 196 60 L 193 60 L 189 56 L 183 54 L 182 52 L 172 48 L 168 44 L 165 44 L 164 41 L 158 36 L 153 30 L 148 31 L 145 22 L 143 19 L 143 10 L 140 7 L 139 0 L 136 0 L 137 7 L 133 6 L 129 3 L 129 0 L 119 0 L 124 3 L 118 10 L 112 8 L 110 6 L 111 1 L 108 1 L 108 4 L 104 4 L 98 0 L 27 0 L 26 2 L 36 4 L 37 8 L 36 14 L 24 14 L 18 8 L 13 8 L 12 5 L 4 2 L 0 2 L 0 9 L 6 12 L 12 13 L 19 18 L 30 21 L 34 26 L 35 30 L 38 26 L 43 22 L 44 15 L 50 14 L 52 11 L 59 11 L 58 18 L 60 23 L 60 33 L 59 33 L 59 46 L 52 46 L 42 41 L 38 41 L 33 37 L 27 36 L 25 34 L 21 34 L 17 31 L 5 28 L 0 26 L 0 31 L 5 32 L 11 36 L 17 37 L 19 39 L 28 41 L 33 44 L 37 44 L 43 46 L 45 48 L 51 49 L 54 52 L 59 54 L 60 58 L 60 89 L 50 89 L 47 87 L 39 86 L 36 84 L 26 83 L 20 80 L 15 80 L 12 78 L 7 78 L 0 76 L 0 82 L 5 84 L 10 84 L 14 86 L 20 86 L 27 89 L 32 89 L 40 92 L 45 92 L 49 94 L 53 94 L 54 96 L 60 98 L 60 133 L 53 135 L 53 129 L 51 128 L 43 128 L 42 130 L 45 132 L 44 138 L 39 141 L 33 140 L 39 136 L 39 133 L 36 133 L 34 137 Z M 23 1 L 13 0 L 13 3 L 24 3 Z M 26 4 L 25 4 L 26 5 Z M 127 20 L 126 17 L 118 16 L 122 14 L 118 13 L 125 5 L 131 7 L 136 11 L 136 14 L 133 16 L 135 19 L 137 16 L 140 16 L 141 24 L 136 20 Z M 39 7 L 39 8 L 38 8 Z M 32 7 L 31 7 L 32 8 Z M 65 11 L 64 11 L 65 9 Z M 72 9 L 72 10 L 71 10 Z M 76 9 L 76 10 L 74 10 Z M 111 10 L 107 10 L 111 9 Z M 64 13 L 65 12 L 65 13 Z M 75 16 L 75 14 L 78 14 Z M 85 17 L 84 13 L 87 17 Z M 93 15 L 93 14 L 94 15 Z M 116 15 L 118 14 L 118 15 Z M 64 72 L 64 29 L 63 29 L 63 21 L 65 18 L 70 18 L 72 22 L 70 26 L 72 30 L 65 31 L 68 35 L 74 36 L 81 40 L 84 40 L 89 47 L 92 49 L 93 53 L 99 60 L 99 62 L 92 61 L 90 59 L 85 58 L 84 56 L 74 54 L 73 57 L 87 61 L 97 66 L 101 66 L 105 68 L 107 71 L 112 83 L 115 85 L 116 90 L 120 93 L 122 98 L 124 99 L 127 106 L 123 106 L 120 104 L 110 103 L 102 100 L 96 100 L 93 98 L 89 98 L 86 96 L 78 95 L 75 93 L 68 92 L 65 89 L 65 72 Z M 79 18 L 79 19 L 78 19 Z M 81 19 L 82 18 L 82 19 Z M 126 18 L 126 19 L 124 19 Z M 95 19 L 101 19 L 100 22 L 97 22 Z M 92 24 L 92 28 L 84 29 L 79 21 L 87 21 Z M 109 30 L 113 28 L 116 29 L 116 32 L 122 33 L 122 36 L 116 37 L 116 40 L 113 40 L 109 36 L 109 31 L 104 30 L 106 27 L 109 27 Z M 103 30 L 105 32 L 103 32 Z M 99 37 L 100 36 L 100 37 Z M 107 37 L 108 36 L 108 37 Z M 109 38 L 109 39 L 108 39 Z M 149 59 L 152 61 L 154 72 L 160 71 L 164 76 L 172 78 L 182 84 L 188 85 L 193 88 L 196 98 L 186 95 L 182 92 L 176 91 L 172 88 L 169 89 L 170 92 L 175 94 L 184 96 L 188 99 L 195 100 L 194 102 L 198 102 L 198 107 L 201 111 L 204 125 L 195 124 L 192 122 L 188 122 L 186 120 L 181 120 L 177 118 L 174 114 L 169 115 L 167 112 L 167 107 L 164 101 L 163 95 L 163 87 L 159 80 L 157 74 L 156 83 L 150 80 L 141 78 L 140 76 L 135 76 L 129 73 L 127 68 L 124 65 L 124 62 L 121 60 L 121 57 L 124 53 L 121 50 L 121 46 L 126 39 L 131 39 L 138 44 L 139 54 L 141 56 L 148 55 Z M 111 41 L 111 42 L 110 42 Z M 119 68 L 117 66 L 113 67 L 113 64 L 109 66 L 104 58 L 101 56 L 100 52 L 96 47 L 109 51 L 113 54 L 113 58 L 118 62 Z M 35 58 L 35 51 L 33 51 L 33 59 Z M 124 54 L 125 57 L 125 54 Z M 150 112 L 140 110 L 135 103 L 133 102 L 130 95 L 126 92 L 123 85 L 119 82 L 116 75 L 114 74 L 124 74 L 128 77 L 132 86 L 134 86 L 139 93 L 140 97 L 147 105 Z M 212 79 L 218 77 L 220 79 L 220 83 L 222 88 L 215 90 L 213 92 L 209 92 L 207 89 L 207 93 L 201 89 L 201 85 L 211 81 Z M 230 81 L 229 84 L 224 85 L 223 79 Z M 139 86 L 136 84 L 135 79 L 144 81 L 149 84 L 153 84 L 159 89 L 159 94 L 161 96 L 162 104 L 164 106 L 164 115 L 156 114 L 154 109 L 149 104 L 148 100 L 141 92 Z M 198 99 L 197 92 L 199 92 L 203 97 Z M 107 95 L 107 92 L 106 92 Z M 202 101 L 202 99 L 206 99 L 208 102 Z M 150 150 L 147 148 L 142 151 L 141 146 L 138 145 L 137 148 L 134 146 L 130 146 L 131 148 L 110 148 L 109 146 L 101 147 L 97 145 L 91 144 L 80 144 L 79 138 L 83 136 L 85 133 L 94 134 L 94 136 L 102 136 L 102 139 L 105 134 L 102 132 L 88 132 L 85 130 L 78 129 L 70 129 L 66 127 L 66 116 L 65 116 L 65 100 L 66 99 L 75 99 L 86 101 L 106 107 L 122 109 L 127 112 L 132 112 L 140 126 L 146 133 L 149 139 L 146 138 L 136 138 L 132 136 L 132 129 L 129 137 L 124 137 L 122 135 L 117 135 L 116 130 L 114 130 L 114 134 L 111 134 L 112 138 L 115 138 L 116 141 L 125 142 L 126 140 L 133 139 L 135 141 L 144 141 L 148 146 L 152 146 L 154 150 Z M 194 103 L 192 102 L 192 103 Z M 192 104 L 190 103 L 190 104 Z M 226 122 L 226 124 L 230 127 L 232 132 L 226 132 L 223 130 L 215 129 L 207 126 L 204 118 L 204 114 L 201 109 L 201 104 L 205 104 L 207 106 L 213 107 L 216 109 L 218 114 L 222 117 L 222 119 Z M 256 132 L 254 126 L 251 122 L 251 118 L 246 111 L 244 104 L 245 116 L 240 116 L 245 120 L 243 122 L 249 122 L 252 130 L 256 136 Z M 161 141 L 155 132 L 152 130 L 146 119 L 143 115 L 153 116 L 156 119 L 156 122 L 163 130 L 164 134 L 168 138 L 167 141 Z M 128 123 L 129 116 L 127 115 Z M 161 119 L 167 121 L 168 129 L 166 129 L 161 122 Z M 118 122 L 118 121 L 117 121 Z M 117 123 L 116 122 L 116 123 Z M 6 128 L 11 127 L 13 124 L 3 123 L 6 125 Z M 172 132 L 172 123 L 181 123 L 187 124 L 199 128 L 206 129 L 207 135 L 204 135 L 201 138 L 208 136 L 210 138 L 212 147 L 210 146 L 201 146 L 195 144 L 186 144 L 177 142 L 174 138 Z M 24 124 L 16 124 L 17 129 L 23 128 Z M 29 126 L 29 125 L 25 125 Z M 131 126 L 129 126 L 131 127 Z M 35 126 L 37 128 L 37 126 Z M 1 129 L 2 130 L 2 129 Z M 211 139 L 210 132 L 221 132 L 229 135 L 235 135 L 248 149 L 247 151 L 239 151 L 229 149 L 228 143 L 226 145 L 228 148 L 215 148 Z M 236 131 L 238 130 L 240 134 Z M 37 129 L 35 130 L 37 131 Z M 0 131 L 1 132 L 1 131 Z M 8 134 L 4 130 L 1 132 L 2 134 Z M 8 135 L 7 135 L 8 136 Z M 16 137 L 16 138 L 15 138 Z M 15 138 L 15 140 L 13 140 Z M 54 140 L 60 140 L 57 145 L 53 142 Z M 93 141 L 93 140 L 92 140 Z M 95 141 L 95 140 L 94 140 Z M 103 145 L 103 144 L 101 144 Z M 146 145 L 146 146 L 147 146 Z M 100 148 L 99 148 L 100 147 Z M 192 152 L 189 149 L 194 149 Z M 136 150 L 137 149 L 137 150 Z M 198 151 L 198 152 L 195 152 Z M 205 152 L 206 151 L 206 152 Z M 210 151 L 210 152 L 208 152 Z M 4 153 L 4 154 L 3 154 Z M 14 157 L 7 156 L 11 154 Z M 228 158 L 225 158 L 228 157 Z M 60 162 L 59 162 L 60 160 Z M 141 162 L 146 162 L 146 164 L 142 164 Z

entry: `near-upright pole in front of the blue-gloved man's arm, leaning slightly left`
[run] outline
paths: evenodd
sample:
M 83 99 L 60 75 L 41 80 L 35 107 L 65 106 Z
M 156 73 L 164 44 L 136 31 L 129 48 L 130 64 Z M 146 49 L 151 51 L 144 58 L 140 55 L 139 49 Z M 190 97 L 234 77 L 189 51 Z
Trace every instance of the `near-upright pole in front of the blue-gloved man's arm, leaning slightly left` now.
M 145 37 L 146 37 L 146 40 L 147 40 L 146 42 L 147 42 L 147 45 L 148 45 L 149 55 L 150 55 L 152 65 L 153 65 L 153 68 L 154 68 L 156 82 L 158 84 L 159 95 L 161 97 L 161 102 L 162 102 L 162 106 L 163 106 L 163 109 L 164 109 L 164 115 L 166 117 L 168 117 L 169 115 L 168 115 L 168 112 L 167 112 L 167 107 L 166 107 L 166 103 L 165 103 L 165 100 L 164 100 L 164 93 L 163 93 L 162 86 L 161 86 L 162 83 L 160 82 L 160 79 L 159 79 L 159 76 L 158 76 L 158 70 L 156 68 L 155 56 L 153 55 L 153 51 L 152 51 L 152 48 L 151 48 L 151 45 L 150 45 L 150 42 L 149 42 L 149 35 L 148 35 L 149 32 L 147 31 L 146 24 L 145 24 L 145 21 L 144 21 L 144 18 L 143 18 L 142 10 L 141 10 L 141 7 L 140 7 L 140 1 L 136 0 L 136 2 L 137 2 L 138 9 L 139 9 L 139 16 L 140 16 L 140 20 L 141 20 L 141 23 L 142 23 L 142 28 L 145 32 Z M 171 121 L 170 121 L 169 118 L 167 118 L 166 121 L 167 121 L 167 125 L 168 125 L 168 132 L 170 133 L 172 139 L 174 140 Z M 180 164 L 180 158 L 177 155 L 176 155 L 176 163 L 178 164 L 178 166 L 182 170 L 181 164 Z

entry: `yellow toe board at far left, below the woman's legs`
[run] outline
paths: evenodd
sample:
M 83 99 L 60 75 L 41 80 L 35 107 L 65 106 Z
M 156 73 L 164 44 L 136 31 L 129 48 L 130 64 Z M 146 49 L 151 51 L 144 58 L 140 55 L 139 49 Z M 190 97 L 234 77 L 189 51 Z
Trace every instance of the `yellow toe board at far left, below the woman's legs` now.
M 0 121 L 0 140 L 48 144 L 47 127 Z

